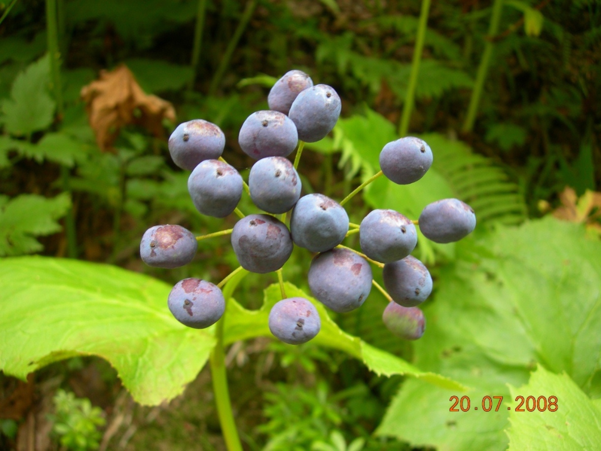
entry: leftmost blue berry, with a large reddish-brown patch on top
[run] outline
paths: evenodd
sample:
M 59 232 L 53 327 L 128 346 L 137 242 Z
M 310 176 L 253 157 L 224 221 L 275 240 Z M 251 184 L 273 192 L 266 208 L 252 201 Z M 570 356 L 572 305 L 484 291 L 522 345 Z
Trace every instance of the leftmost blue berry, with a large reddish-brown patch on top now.
M 154 225 L 140 242 L 140 256 L 148 266 L 178 268 L 194 259 L 198 242 L 192 232 L 181 225 Z

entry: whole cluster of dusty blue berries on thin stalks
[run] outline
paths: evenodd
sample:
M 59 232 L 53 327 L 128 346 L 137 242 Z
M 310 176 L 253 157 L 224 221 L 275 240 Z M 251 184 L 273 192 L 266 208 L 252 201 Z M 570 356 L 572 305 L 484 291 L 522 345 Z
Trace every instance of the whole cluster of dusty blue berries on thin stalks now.
M 280 271 L 295 244 L 306 248 L 317 253 L 308 270 L 308 283 L 320 302 L 344 313 L 360 307 L 376 286 L 391 301 L 382 316 L 386 327 L 404 339 L 418 339 L 425 322 L 416 306 L 432 292 L 432 277 L 410 255 L 417 244 L 415 224 L 432 241 L 458 241 L 474 230 L 474 210 L 460 200 L 444 199 L 426 206 L 418 221 L 394 210 L 377 209 L 357 225 L 349 222 L 342 204 L 332 198 L 323 194 L 301 197 L 296 165 L 302 144 L 319 141 L 331 132 L 340 116 L 340 97 L 331 86 L 313 85 L 306 73 L 291 70 L 273 85 L 267 100 L 270 110 L 254 112 L 240 127 L 240 147 L 256 160 L 248 185 L 221 158 L 225 136 L 218 126 L 196 119 L 174 130 L 169 152 L 178 167 L 192 171 L 188 191 L 195 207 L 217 218 L 233 212 L 240 216 L 233 229 L 214 235 L 231 233 L 242 268 L 260 274 Z M 287 156 L 297 146 L 292 164 Z M 392 141 L 380 153 L 382 174 L 401 185 L 421 179 L 430 165 L 432 150 L 419 138 Z M 245 216 L 237 209 L 245 189 L 265 213 Z M 353 231 L 359 233 L 361 252 L 341 245 Z M 191 262 L 197 248 L 197 238 L 189 230 L 156 225 L 144 233 L 140 254 L 150 266 L 176 268 Z M 374 282 L 370 262 L 383 268 L 385 290 Z M 175 284 L 168 306 L 178 321 L 194 328 L 215 324 L 225 311 L 220 286 L 197 278 Z M 319 333 L 320 318 L 308 299 L 286 298 L 270 311 L 269 328 L 283 342 L 300 344 Z

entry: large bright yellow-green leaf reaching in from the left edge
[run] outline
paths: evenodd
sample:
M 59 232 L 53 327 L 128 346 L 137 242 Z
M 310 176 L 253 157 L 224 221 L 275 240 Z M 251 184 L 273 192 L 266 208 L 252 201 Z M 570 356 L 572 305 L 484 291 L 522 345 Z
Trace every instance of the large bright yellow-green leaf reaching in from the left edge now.
M 115 266 L 4 259 L 0 286 L 0 369 L 22 379 L 56 360 L 99 355 L 136 401 L 156 405 L 182 393 L 215 342 L 171 316 L 170 286 Z

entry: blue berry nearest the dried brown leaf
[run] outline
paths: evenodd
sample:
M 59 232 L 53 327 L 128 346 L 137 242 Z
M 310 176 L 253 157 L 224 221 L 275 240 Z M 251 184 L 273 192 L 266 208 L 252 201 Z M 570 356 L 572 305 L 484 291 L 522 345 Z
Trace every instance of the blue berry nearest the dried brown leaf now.
M 192 171 L 204 160 L 218 159 L 225 147 L 225 135 L 213 123 L 194 119 L 179 124 L 169 137 L 169 153 L 178 167 Z

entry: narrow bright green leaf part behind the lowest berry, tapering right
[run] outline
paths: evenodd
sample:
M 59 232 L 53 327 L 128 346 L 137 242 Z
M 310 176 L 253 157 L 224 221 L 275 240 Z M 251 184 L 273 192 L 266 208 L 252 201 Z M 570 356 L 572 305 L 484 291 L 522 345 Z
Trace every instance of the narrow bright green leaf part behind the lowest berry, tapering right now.
M 436 373 L 421 371 L 395 355 L 374 348 L 361 339 L 344 333 L 329 318 L 328 312 L 321 302 L 316 301 L 316 299 L 294 285 L 285 283 L 285 292 L 288 297 L 300 296 L 309 299 L 317 308 L 322 320 L 322 328 L 319 334 L 313 339 L 313 342 L 317 345 L 340 349 L 362 360 L 377 375 L 391 376 L 394 374 L 406 374 L 440 387 L 458 391 L 465 389 L 463 385 L 457 384 L 451 379 L 444 378 Z M 240 304 L 237 304 L 237 302 L 230 302 L 225 313 L 225 343 L 233 343 L 237 340 L 260 336 L 272 337 L 267 325 L 267 319 L 269 318 L 271 307 L 281 299 L 282 295 L 279 286 L 274 284 L 265 289 L 264 303 L 259 310 L 246 310 Z

